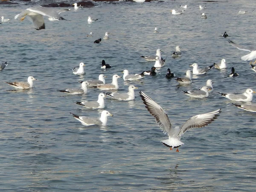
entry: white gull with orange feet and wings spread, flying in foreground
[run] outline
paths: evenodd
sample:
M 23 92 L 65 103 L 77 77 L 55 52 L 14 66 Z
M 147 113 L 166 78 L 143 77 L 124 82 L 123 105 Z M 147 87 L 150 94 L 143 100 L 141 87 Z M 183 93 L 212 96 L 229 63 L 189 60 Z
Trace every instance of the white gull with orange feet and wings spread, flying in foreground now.
M 179 152 L 178 147 L 184 145 L 184 143 L 180 141 L 180 138 L 186 131 L 193 128 L 202 128 L 209 125 L 209 123 L 217 119 L 219 113 L 221 112 L 221 109 L 218 109 L 209 113 L 192 116 L 181 127 L 176 126 L 173 128 L 167 113 L 160 105 L 154 102 L 153 99 L 151 99 L 142 91 L 140 91 L 140 97 L 145 104 L 145 108 L 147 108 L 148 112 L 156 119 L 160 129 L 164 134 L 167 133 L 169 136 L 168 140 L 162 140 L 161 143 L 169 147 L 170 150 L 172 150 L 172 148 L 177 148 L 177 152 Z

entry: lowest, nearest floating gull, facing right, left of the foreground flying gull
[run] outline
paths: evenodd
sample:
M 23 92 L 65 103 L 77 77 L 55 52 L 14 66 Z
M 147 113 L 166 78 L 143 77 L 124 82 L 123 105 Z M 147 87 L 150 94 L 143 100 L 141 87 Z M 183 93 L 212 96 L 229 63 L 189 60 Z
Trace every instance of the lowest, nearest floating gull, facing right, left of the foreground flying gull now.
M 111 113 L 108 111 L 104 110 L 102 111 L 101 117 L 98 118 L 92 118 L 92 117 L 86 117 L 86 116 L 78 116 L 76 114 L 73 114 L 73 117 L 81 122 L 81 124 L 85 126 L 90 126 L 90 125 L 102 125 L 106 126 L 108 122 L 108 116 L 113 116 Z

